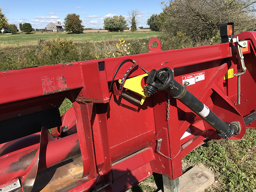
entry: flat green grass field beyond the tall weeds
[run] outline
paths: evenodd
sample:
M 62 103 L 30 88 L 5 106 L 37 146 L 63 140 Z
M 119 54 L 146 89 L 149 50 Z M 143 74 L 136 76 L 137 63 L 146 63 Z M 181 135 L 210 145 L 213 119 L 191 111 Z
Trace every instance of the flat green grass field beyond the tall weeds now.
M 25 44 L 36 45 L 38 39 L 50 40 L 52 37 L 60 36 L 60 38 L 66 38 L 73 40 L 73 42 L 100 42 L 104 40 L 119 39 L 142 39 L 153 38 L 161 35 L 161 32 L 141 31 L 141 32 L 91 32 L 82 34 L 67 34 L 64 32 L 36 32 L 31 34 L 17 33 L 17 34 L 0 34 L 0 47 L 6 46 L 22 46 Z

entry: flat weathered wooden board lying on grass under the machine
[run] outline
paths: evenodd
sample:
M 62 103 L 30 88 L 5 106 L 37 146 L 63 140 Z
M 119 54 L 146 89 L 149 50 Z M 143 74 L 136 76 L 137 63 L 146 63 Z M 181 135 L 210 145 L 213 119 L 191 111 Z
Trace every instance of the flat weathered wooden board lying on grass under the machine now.
M 179 177 L 180 192 L 204 192 L 214 182 L 214 175 L 195 166 Z

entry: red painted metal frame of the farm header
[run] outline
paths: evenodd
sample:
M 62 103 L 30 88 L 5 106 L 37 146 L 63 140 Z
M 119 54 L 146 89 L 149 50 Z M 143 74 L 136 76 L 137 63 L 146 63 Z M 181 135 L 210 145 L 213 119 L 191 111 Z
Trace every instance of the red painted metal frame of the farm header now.
M 256 108 L 251 91 L 256 88 L 256 69 L 253 66 L 256 33 L 244 32 L 238 37 L 249 40 L 250 44 L 250 50 L 244 54 L 247 71 L 241 76 L 240 105 L 236 103 L 237 77 L 224 80 L 228 69 L 233 68 L 234 73 L 237 72 L 236 53 L 232 52 L 231 43 L 161 51 L 159 40 L 152 39 L 150 51 L 146 54 L 0 72 L 0 122 L 57 108 L 65 98 L 70 99 L 74 110 L 62 117 L 62 126 L 76 124 L 77 133 L 57 140 L 47 140 L 47 136 L 41 135 L 45 142 L 40 144 L 40 148 L 44 148 L 45 153 L 43 157 L 43 152 L 38 154 L 46 162 L 44 168 L 51 167 L 75 151 L 76 145 L 71 141 L 79 140 L 84 169 L 82 178 L 73 184 L 70 191 L 96 190 L 102 186 L 104 191 L 124 191 L 152 172 L 175 179 L 182 174 L 181 159 L 185 155 L 205 140 L 220 139 L 215 130 L 173 98 L 170 99 L 170 119 L 167 121 L 168 94 L 164 91 L 146 98 L 140 106 L 115 95 L 113 91 L 109 93 L 109 82 L 117 66 L 125 59 L 135 60 L 147 71 L 172 68 L 174 78 L 180 84 L 184 76 L 204 73 L 204 80 L 189 85 L 187 89 L 223 121 L 239 121 L 241 132 L 230 139 L 241 139 L 246 128 L 256 127 L 255 122 L 245 126 L 243 121 L 243 117 Z M 155 49 L 151 46 L 153 41 L 158 43 Z M 125 63 L 114 80 L 121 79 L 131 65 L 130 62 Z M 130 77 L 143 73 L 138 69 Z M 182 137 L 188 128 L 191 134 L 186 133 L 188 136 Z M 56 134 L 60 136 L 59 132 Z M 26 138 L 19 141 L 25 142 Z M 156 151 L 159 138 L 162 139 L 161 153 L 169 158 Z M 58 147 L 64 141 L 68 149 Z M 4 172 L 29 151 L 39 148 L 38 137 L 33 139 L 34 145 L 24 148 L 12 145 L 15 142 L 18 141 L 0 144 L 0 162 L 3 162 L 0 170 Z M 7 150 L 10 152 L 5 154 Z M 40 166 L 39 161 L 39 169 Z M 0 186 L 16 178 L 25 180 L 30 170 L 28 164 L 25 169 L 5 175 L 0 172 Z

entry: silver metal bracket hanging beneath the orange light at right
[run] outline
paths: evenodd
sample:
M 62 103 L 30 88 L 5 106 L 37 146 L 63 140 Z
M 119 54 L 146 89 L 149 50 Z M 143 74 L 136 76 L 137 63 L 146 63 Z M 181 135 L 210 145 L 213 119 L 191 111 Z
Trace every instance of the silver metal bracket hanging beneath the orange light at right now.
M 241 70 L 241 72 L 238 72 L 238 73 L 234 74 L 234 76 L 239 76 L 239 75 L 242 75 L 246 72 L 242 47 L 245 48 L 246 46 L 248 46 L 248 42 L 247 41 L 240 41 L 239 42 L 237 36 L 232 38 L 232 42 L 235 43 L 235 46 L 236 46 L 237 60 L 238 60 L 238 64 L 239 64 L 239 67 L 240 67 L 240 70 Z

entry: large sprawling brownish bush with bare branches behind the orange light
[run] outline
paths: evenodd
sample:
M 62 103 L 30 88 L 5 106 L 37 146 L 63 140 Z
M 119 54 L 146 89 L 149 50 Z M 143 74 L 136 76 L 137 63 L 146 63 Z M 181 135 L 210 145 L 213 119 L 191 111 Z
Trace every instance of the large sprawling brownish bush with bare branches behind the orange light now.
M 235 31 L 252 30 L 256 16 L 255 0 L 169 0 L 164 3 L 165 31 L 190 38 L 211 39 L 218 34 L 220 24 L 235 23 Z

